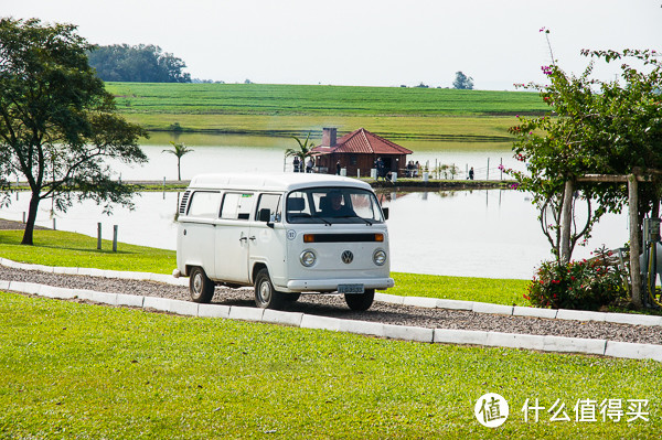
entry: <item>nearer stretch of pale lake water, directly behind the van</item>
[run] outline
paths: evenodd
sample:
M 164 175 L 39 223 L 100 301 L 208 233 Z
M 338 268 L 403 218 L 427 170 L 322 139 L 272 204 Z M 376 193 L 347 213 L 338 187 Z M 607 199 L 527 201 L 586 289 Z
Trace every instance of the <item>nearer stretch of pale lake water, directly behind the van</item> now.
M 104 238 L 174 249 L 174 214 L 178 193 L 142 193 L 136 211 L 118 207 L 113 216 L 102 214 L 92 202 L 74 205 L 57 216 L 57 228 L 96 236 L 103 223 Z M 391 216 L 391 267 L 394 271 L 488 278 L 531 278 L 541 260 L 549 257 L 549 245 L 540 230 L 535 207 L 526 194 L 516 191 L 456 191 L 381 193 Z M 21 221 L 29 194 L 21 193 L 0 217 Z M 51 227 L 49 203 L 42 203 L 39 225 Z M 589 247 L 574 257 L 584 258 L 606 244 L 622 246 L 628 239 L 626 215 L 605 216 L 597 225 Z

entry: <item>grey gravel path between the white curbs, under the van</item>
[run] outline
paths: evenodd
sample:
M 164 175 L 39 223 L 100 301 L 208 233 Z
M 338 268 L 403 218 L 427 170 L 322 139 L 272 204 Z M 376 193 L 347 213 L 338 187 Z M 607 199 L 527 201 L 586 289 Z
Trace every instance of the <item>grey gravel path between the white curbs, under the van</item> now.
M 0 266 L 0 280 L 39 282 L 64 288 L 189 300 L 188 288 L 153 281 L 54 275 L 35 270 L 11 269 L 3 266 Z M 255 305 L 253 302 L 252 289 L 216 288 L 213 303 L 243 307 Z M 662 344 L 662 328 L 660 326 L 548 320 L 528 316 L 505 316 L 460 310 L 396 305 L 383 302 L 375 302 L 366 312 L 354 312 L 348 309 L 343 298 L 337 294 L 301 296 L 301 299 L 290 304 L 287 310 L 398 325 L 483 330 L 505 333 L 605 339 L 609 341 Z

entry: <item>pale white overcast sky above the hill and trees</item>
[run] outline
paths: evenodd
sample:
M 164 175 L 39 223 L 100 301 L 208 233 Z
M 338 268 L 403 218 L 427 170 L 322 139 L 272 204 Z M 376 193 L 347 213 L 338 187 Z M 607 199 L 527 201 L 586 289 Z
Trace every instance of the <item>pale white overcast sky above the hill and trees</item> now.
M 0 17 L 154 44 L 191 77 L 226 83 L 451 87 L 461 71 L 477 89 L 512 90 L 545 82 L 542 28 L 569 73 L 587 66 L 583 49 L 662 52 L 662 0 L 0 0 Z

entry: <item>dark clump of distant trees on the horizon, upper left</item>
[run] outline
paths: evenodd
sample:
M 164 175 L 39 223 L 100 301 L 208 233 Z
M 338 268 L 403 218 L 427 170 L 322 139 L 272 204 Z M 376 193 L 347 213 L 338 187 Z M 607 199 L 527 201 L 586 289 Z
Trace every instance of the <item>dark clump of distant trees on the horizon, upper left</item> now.
M 104 81 L 129 83 L 191 83 L 186 64 L 159 46 L 114 44 L 89 53 L 89 65 Z

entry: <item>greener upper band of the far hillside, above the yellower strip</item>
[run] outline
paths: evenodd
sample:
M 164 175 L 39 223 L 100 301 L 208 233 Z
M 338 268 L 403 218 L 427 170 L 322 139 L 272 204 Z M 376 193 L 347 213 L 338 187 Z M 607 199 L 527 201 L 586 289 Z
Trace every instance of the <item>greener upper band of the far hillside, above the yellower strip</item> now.
M 108 83 L 122 112 L 194 115 L 506 116 L 546 109 L 537 94 L 273 84 Z

